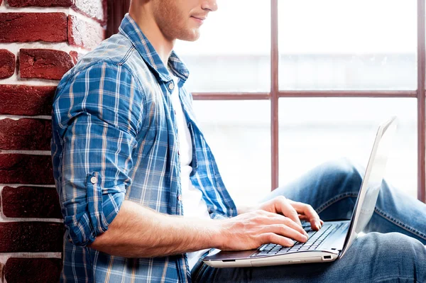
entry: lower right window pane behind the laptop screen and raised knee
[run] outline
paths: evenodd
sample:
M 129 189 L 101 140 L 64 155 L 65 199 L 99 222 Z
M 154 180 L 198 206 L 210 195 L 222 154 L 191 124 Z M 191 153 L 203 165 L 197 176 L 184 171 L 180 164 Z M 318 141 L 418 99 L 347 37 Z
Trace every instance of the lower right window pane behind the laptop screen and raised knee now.
M 280 99 L 280 185 L 322 162 L 366 167 L 378 125 L 398 116 L 385 178 L 417 197 L 416 99 Z

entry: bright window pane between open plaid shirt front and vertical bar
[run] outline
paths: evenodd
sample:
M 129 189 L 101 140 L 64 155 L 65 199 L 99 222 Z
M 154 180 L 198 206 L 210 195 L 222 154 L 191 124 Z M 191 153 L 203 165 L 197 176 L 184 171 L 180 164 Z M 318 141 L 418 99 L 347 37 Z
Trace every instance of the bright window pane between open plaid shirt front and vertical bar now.
M 271 192 L 269 101 L 194 101 L 194 108 L 234 200 L 249 204 Z

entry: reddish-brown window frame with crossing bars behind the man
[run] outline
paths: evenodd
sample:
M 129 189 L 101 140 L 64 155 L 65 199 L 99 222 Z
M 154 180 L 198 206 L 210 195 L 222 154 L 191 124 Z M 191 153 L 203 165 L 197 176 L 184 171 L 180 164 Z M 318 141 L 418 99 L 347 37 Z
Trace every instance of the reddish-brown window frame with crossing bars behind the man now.
M 271 91 L 243 92 L 195 92 L 197 100 L 269 100 L 271 101 L 271 190 L 278 187 L 278 104 L 282 97 L 381 97 L 417 99 L 417 199 L 426 203 L 426 9 L 425 0 L 417 0 L 417 90 L 408 91 L 280 91 L 278 84 L 278 0 L 271 1 Z M 118 32 L 121 19 L 129 11 L 130 0 L 107 0 L 107 37 Z

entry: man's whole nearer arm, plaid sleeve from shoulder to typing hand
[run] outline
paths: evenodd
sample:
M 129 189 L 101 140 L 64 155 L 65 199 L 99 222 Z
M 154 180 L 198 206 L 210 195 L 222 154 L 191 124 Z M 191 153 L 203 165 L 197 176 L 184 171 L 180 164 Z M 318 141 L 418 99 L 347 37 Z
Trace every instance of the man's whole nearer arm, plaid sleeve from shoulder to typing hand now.
M 122 67 L 99 63 L 60 91 L 53 104 L 53 133 L 63 150 L 58 187 L 67 234 L 75 245 L 124 257 L 161 257 L 306 240 L 300 226 L 276 213 L 200 221 L 124 201 L 143 119 L 138 108 L 143 94 L 133 76 Z

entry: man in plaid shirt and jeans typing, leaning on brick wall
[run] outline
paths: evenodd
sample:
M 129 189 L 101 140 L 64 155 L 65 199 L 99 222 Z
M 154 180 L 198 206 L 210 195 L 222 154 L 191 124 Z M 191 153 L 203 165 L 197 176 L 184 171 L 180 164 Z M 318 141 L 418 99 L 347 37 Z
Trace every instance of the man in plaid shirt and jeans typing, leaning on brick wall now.
M 202 264 L 209 248 L 305 242 L 300 220 L 318 229 L 317 213 L 348 218 L 362 177 L 340 160 L 256 207 L 236 208 L 195 121 L 189 73 L 173 52 L 176 39 L 197 40 L 216 10 L 216 0 L 133 0 L 119 33 L 58 85 L 52 154 L 67 228 L 62 282 L 426 282 L 426 206 L 386 183 L 367 231 L 400 233 L 368 233 L 342 260 Z

